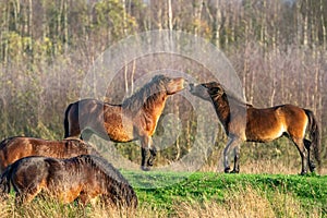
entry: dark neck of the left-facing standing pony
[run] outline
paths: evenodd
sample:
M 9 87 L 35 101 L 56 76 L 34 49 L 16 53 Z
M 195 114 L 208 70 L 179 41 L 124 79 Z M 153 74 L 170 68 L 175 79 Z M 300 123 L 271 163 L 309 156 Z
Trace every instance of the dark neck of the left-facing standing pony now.
M 230 121 L 230 108 L 227 99 L 227 95 L 222 94 L 219 96 L 211 96 L 211 100 L 216 110 L 216 113 L 218 116 L 218 119 L 220 120 L 221 124 L 223 125 L 225 132 L 228 135 L 228 123 Z

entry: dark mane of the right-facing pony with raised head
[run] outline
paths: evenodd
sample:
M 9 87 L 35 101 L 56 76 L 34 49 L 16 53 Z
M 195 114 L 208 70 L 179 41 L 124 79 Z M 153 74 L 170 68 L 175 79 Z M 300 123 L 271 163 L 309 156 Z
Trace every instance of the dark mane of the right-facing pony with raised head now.
M 156 99 L 166 94 L 165 83 L 168 81 L 164 75 L 156 75 L 141 89 L 122 102 L 122 108 L 132 112 L 140 110 L 143 106 L 152 107 Z

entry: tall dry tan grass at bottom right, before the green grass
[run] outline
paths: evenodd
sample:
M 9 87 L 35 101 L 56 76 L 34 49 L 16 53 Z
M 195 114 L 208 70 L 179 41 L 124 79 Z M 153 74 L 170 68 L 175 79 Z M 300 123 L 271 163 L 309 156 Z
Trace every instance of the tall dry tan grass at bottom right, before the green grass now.
M 268 201 L 265 193 L 251 186 L 230 191 L 225 204 L 217 202 L 180 203 L 175 206 L 175 217 L 181 218 L 213 218 L 213 217 L 322 217 L 322 211 L 314 209 L 308 214 L 291 195 L 276 193 Z M 271 196 L 270 196 L 271 197 Z

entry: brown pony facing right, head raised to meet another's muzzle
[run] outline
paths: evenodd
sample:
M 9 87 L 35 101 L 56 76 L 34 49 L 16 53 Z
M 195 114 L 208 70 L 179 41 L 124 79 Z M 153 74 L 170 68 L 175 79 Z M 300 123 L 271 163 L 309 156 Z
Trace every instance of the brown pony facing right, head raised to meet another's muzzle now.
M 156 157 L 152 135 L 155 133 L 158 119 L 168 96 L 182 90 L 184 82 L 182 77 L 156 75 L 122 105 L 110 105 L 96 99 L 73 102 L 65 110 L 64 137 L 76 137 L 87 132 L 119 143 L 140 140 L 141 168 L 148 170 L 149 168 L 145 166 L 148 149 L 150 150 L 148 167 L 153 166 Z M 87 140 L 84 134 L 83 138 Z

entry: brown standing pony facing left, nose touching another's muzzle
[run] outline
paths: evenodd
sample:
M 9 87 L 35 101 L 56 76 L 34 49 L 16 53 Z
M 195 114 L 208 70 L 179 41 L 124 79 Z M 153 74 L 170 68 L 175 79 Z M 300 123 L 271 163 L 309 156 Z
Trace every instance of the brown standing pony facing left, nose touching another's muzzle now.
M 319 130 L 316 119 L 311 110 L 293 105 L 281 105 L 272 108 L 257 109 L 244 104 L 217 82 L 204 83 L 197 86 L 190 84 L 191 94 L 213 102 L 218 119 L 229 137 L 223 150 L 225 172 L 230 171 L 228 153 L 234 152 L 234 168 L 232 172 L 240 171 L 239 156 L 241 142 L 270 142 L 287 135 L 298 147 L 302 160 L 301 174 L 305 174 L 307 165 L 311 171 L 315 170 L 314 162 L 310 159 L 310 148 L 314 147 L 315 158 L 320 168 L 319 157 Z M 311 141 L 305 138 L 308 131 Z M 306 154 L 307 152 L 307 154 Z M 307 158 L 307 162 L 305 161 Z

